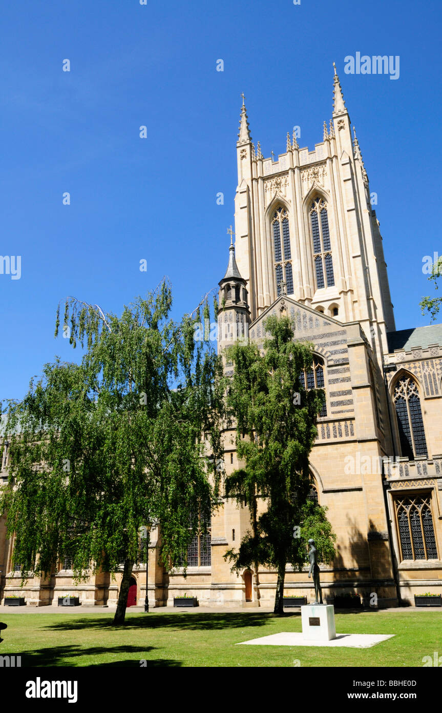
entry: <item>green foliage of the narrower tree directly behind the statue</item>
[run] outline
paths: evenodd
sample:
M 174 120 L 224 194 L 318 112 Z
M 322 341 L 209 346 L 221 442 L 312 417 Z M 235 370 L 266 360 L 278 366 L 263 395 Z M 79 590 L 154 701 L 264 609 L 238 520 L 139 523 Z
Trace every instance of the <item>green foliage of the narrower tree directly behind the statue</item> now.
M 226 495 L 246 502 L 252 531 L 239 550 L 228 550 L 233 570 L 253 563 L 285 570 L 307 561 L 307 540 L 314 538 L 322 562 L 334 555 L 325 508 L 308 500 L 310 451 L 317 436 L 317 414 L 323 391 L 305 391 L 300 371 L 312 364 L 312 344 L 295 342 L 288 317 L 268 317 L 263 344 L 234 344 L 226 358 L 233 362 L 227 389 L 228 411 L 236 420 L 236 448 L 245 467 L 226 478 Z M 294 392 L 300 405 L 293 404 Z M 258 517 L 258 497 L 267 509 Z M 300 537 L 294 537 L 295 526 Z

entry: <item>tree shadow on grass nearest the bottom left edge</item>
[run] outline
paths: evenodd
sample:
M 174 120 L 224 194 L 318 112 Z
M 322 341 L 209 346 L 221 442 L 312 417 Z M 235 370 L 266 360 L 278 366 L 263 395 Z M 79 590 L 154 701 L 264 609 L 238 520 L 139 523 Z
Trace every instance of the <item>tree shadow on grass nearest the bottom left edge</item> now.
M 147 652 L 153 651 L 154 646 L 93 646 L 81 647 L 77 645 L 70 646 L 54 646 L 45 649 L 36 649 L 34 651 L 21 654 L 22 668 L 38 668 L 38 667 L 131 667 L 141 668 L 140 661 L 146 661 L 146 667 L 152 666 L 181 666 L 180 661 L 173 659 L 152 659 L 146 660 Z M 107 661 L 91 664 L 75 664 L 75 660 L 79 657 L 92 656 L 99 657 L 101 655 L 112 654 L 127 654 L 138 655 L 137 658 L 122 659 L 119 661 Z

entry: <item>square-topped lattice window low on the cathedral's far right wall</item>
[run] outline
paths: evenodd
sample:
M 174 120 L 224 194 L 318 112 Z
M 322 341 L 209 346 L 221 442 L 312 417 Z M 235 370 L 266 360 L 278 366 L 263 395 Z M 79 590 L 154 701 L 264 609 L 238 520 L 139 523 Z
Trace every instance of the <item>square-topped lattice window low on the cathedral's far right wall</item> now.
M 394 501 L 401 560 L 437 560 L 431 495 L 399 496 Z

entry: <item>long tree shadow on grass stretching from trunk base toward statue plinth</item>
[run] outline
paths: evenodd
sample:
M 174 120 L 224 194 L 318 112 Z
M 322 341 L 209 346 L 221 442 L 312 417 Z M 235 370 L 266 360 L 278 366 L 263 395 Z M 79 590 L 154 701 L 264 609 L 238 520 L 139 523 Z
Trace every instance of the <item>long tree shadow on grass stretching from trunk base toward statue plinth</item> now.
M 288 615 L 289 617 L 292 615 Z M 273 613 L 262 614 L 144 614 L 132 615 L 126 619 L 125 624 L 119 627 L 112 625 L 112 617 L 72 618 L 53 623 L 46 627 L 52 631 L 75 631 L 81 629 L 111 630 L 115 632 L 130 629 L 182 629 L 188 631 L 199 630 L 225 630 L 247 627 L 260 627 L 268 624 L 273 619 L 280 619 Z

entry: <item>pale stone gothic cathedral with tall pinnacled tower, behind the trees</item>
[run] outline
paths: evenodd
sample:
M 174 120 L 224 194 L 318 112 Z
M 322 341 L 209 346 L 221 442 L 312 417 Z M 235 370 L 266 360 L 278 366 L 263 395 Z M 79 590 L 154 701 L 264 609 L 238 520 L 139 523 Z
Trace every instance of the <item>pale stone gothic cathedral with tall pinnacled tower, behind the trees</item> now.
M 336 70 L 332 118 L 314 150 L 300 148 L 294 134 L 285 153 L 264 158 L 243 98 L 236 155 L 235 243 L 219 282 L 218 350 L 240 336 L 261 345 L 269 314 L 288 315 L 295 339 L 314 344 L 302 379 L 307 389 L 324 389 L 325 401 L 310 496 L 327 506 L 337 535 L 335 560 L 320 567 L 325 601 L 353 594 L 364 605 L 391 607 L 414 604 L 428 590 L 439 594 L 442 324 L 395 329 L 379 220 Z M 224 435 L 231 473 L 240 466 L 235 432 Z M 0 483 L 6 468 L 7 449 Z M 152 530 L 148 568 L 134 569 L 128 605 L 144 603 L 146 580 L 151 607 L 184 594 L 214 609 L 272 605 L 275 571 L 237 575 L 223 558 L 250 529 L 248 508 L 223 498 L 209 525 L 189 547 L 185 577 L 164 569 L 161 533 Z M 75 584 L 69 560 L 20 590 L 13 547 L 0 520 L 1 602 L 21 593 L 28 605 L 49 605 L 70 593 L 84 605 L 115 605 L 121 575 Z M 307 567 L 287 567 L 285 595 L 314 600 Z

